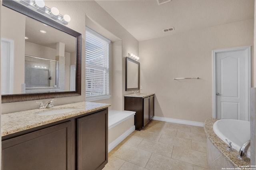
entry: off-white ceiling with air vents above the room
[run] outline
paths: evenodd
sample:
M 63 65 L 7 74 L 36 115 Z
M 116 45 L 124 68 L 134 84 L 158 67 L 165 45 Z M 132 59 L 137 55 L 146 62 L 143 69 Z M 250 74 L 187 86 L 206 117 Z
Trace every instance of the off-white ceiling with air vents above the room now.
M 254 18 L 254 0 L 96 0 L 138 41 Z M 163 32 L 174 27 L 174 31 Z

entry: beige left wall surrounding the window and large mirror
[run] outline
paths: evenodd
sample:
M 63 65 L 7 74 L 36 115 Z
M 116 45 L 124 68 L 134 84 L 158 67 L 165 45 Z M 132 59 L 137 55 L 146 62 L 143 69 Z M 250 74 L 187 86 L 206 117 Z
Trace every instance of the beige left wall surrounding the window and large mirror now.
M 45 1 L 46 6 L 48 7 L 57 7 L 60 10 L 60 14 L 68 14 L 71 17 L 71 21 L 67 25 L 67 27 L 80 32 L 82 34 L 82 94 L 77 97 L 65 97 L 58 98 L 55 101 L 55 105 L 62 105 L 67 103 L 75 103 L 80 101 L 85 101 L 85 26 L 86 26 L 86 16 L 88 16 L 91 20 L 96 22 L 99 26 L 107 30 L 114 36 L 118 37 L 119 41 L 122 41 L 122 53 L 119 53 L 118 56 L 115 56 L 114 59 L 117 60 L 115 66 L 121 67 L 121 72 L 113 72 L 112 77 L 120 77 L 118 81 L 114 83 L 118 83 L 112 86 L 116 86 L 120 88 L 120 92 L 115 97 L 114 100 L 122 101 L 116 104 L 116 102 L 112 102 L 112 99 L 107 100 L 106 103 L 112 104 L 112 106 L 117 106 L 117 108 L 123 108 L 124 106 L 124 97 L 125 93 L 130 93 L 125 91 L 125 60 L 124 57 L 128 53 L 138 54 L 138 41 L 131 36 L 116 20 L 114 20 L 106 11 L 104 11 L 96 2 L 94 1 L 79 1 L 79 0 L 66 0 L 66 1 L 58 1 L 58 0 L 49 0 Z M 1 6 L 1 8 L 3 8 Z M 1 23 L 2 24 L 2 23 Z M 104 36 L 104 35 L 103 35 Z M 113 60 L 114 60 L 113 59 Z M 113 65 L 113 67 L 115 67 Z M 114 91 L 115 89 L 113 89 Z M 112 95 L 112 94 L 110 94 Z M 43 100 L 44 102 L 48 101 L 48 99 Z M 100 101 L 100 102 L 105 102 Z M 109 101 L 109 102 L 108 102 Z M 35 104 L 35 101 L 25 101 L 25 102 L 16 102 L 16 103 L 4 103 L 2 104 L 2 113 L 10 113 L 14 111 L 22 111 L 29 109 L 36 109 L 38 105 Z

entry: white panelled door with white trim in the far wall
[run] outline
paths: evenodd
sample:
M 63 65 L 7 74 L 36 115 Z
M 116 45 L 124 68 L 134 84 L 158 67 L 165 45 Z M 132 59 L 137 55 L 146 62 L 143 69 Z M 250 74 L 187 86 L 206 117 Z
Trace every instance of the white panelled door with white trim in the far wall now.
M 250 47 L 214 50 L 215 117 L 249 121 Z

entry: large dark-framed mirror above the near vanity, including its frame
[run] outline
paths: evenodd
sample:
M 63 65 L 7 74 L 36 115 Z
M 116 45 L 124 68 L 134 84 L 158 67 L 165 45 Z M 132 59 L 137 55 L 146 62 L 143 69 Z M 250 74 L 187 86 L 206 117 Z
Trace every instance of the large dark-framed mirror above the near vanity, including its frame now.
M 81 95 L 81 34 L 2 1 L 2 103 Z

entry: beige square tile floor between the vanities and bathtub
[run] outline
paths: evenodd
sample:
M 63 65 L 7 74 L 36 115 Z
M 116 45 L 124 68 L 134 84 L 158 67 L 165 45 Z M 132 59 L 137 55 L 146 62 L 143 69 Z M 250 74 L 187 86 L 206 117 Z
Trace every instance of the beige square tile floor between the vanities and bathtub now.
M 108 153 L 103 170 L 206 170 L 203 127 L 150 121 Z

